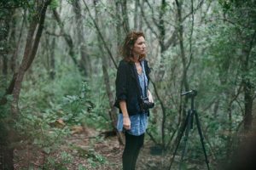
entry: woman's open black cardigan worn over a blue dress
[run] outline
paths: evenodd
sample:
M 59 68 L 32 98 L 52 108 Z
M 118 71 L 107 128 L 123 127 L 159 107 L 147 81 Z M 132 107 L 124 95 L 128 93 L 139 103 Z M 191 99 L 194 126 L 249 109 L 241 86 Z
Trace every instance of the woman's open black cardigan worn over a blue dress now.
M 144 60 L 144 67 L 149 82 L 148 74 L 150 69 L 147 60 Z M 141 112 L 139 105 L 141 102 L 140 85 L 134 62 L 127 62 L 124 59 L 119 62 L 115 86 L 116 100 L 114 105 L 119 108 L 119 101 L 125 100 L 129 116 Z M 119 112 L 121 112 L 120 108 Z

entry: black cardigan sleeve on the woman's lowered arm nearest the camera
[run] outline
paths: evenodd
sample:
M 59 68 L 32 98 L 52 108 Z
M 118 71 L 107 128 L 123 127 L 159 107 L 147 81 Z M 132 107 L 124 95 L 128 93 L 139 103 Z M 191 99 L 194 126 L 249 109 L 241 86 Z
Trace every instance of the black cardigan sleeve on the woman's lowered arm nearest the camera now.
M 127 65 L 122 61 L 119 63 L 117 71 L 115 86 L 116 86 L 116 99 L 117 101 L 127 99 Z

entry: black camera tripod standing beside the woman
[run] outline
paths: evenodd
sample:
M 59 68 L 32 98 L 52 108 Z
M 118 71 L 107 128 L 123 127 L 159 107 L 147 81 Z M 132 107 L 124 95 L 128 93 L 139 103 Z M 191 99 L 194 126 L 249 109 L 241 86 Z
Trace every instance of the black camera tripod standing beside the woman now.
M 203 136 L 202 136 L 202 133 L 201 133 L 200 122 L 199 122 L 199 119 L 198 119 L 197 112 L 194 109 L 194 99 L 195 99 L 196 94 L 197 94 L 196 90 L 190 90 L 188 92 L 184 92 L 183 94 L 181 94 L 182 96 L 186 95 L 186 96 L 188 96 L 191 99 L 191 109 L 188 111 L 188 115 L 186 116 L 185 122 L 183 124 L 181 135 L 179 136 L 179 139 L 178 139 L 178 142 L 177 142 L 177 147 L 176 147 L 176 149 L 175 149 L 175 151 L 173 153 L 172 161 L 171 161 L 169 170 L 172 167 L 172 162 L 174 161 L 174 157 L 175 157 L 175 155 L 177 153 L 178 145 L 180 144 L 180 140 L 182 139 L 183 133 L 184 133 L 184 131 L 186 129 L 185 138 L 184 138 L 184 142 L 185 143 L 184 143 L 184 148 L 183 148 L 183 152 L 182 152 L 182 156 L 181 156 L 181 161 L 180 161 L 180 166 L 179 166 L 179 169 L 181 169 L 181 165 L 182 165 L 182 162 L 183 162 L 183 157 L 184 157 L 184 155 L 185 155 L 185 153 L 187 151 L 186 145 L 187 145 L 187 141 L 189 139 L 189 130 L 193 128 L 193 118 L 194 118 L 194 116 L 195 116 L 197 130 L 198 130 L 198 133 L 199 133 L 200 139 L 201 139 L 202 149 L 204 151 L 204 155 L 205 155 L 205 159 L 206 159 L 206 163 L 207 163 L 207 169 L 208 170 L 210 169 L 209 164 L 208 164 L 209 161 L 207 159 L 207 152 L 206 152 L 206 148 L 205 148 L 205 145 L 204 145 L 204 139 L 203 139 Z

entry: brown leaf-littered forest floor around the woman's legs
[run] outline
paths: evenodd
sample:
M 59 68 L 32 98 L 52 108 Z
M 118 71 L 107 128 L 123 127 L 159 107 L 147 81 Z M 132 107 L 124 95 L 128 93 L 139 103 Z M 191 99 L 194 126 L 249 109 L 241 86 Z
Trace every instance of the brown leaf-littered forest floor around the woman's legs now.
M 153 146 L 153 143 L 145 140 L 137 160 L 137 170 L 169 169 L 172 155 L 161 156 L 159 150 L 152 150 Z M 74 133 L 65 139 L 60 148 L 48 155 L 28 144 L 15 150 L 15 170 L 120 170 L 123 150 L 124 146 L 119 144 L 117 136 L 106 138 L 94 129 L 87 129 L 85 132 Z M 179 159 L 178 156 L 176 158 Z M 187 168 L 198 169 L 195 164 Z

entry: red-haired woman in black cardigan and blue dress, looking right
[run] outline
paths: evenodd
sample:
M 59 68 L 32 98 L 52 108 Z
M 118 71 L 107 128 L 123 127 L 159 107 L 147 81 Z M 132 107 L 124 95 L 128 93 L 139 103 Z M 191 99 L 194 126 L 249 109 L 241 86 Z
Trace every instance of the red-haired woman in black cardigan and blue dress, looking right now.
M 122 55 L 116 77 L 115 105 L 120 113 L 117 128 L 125 131 L 123 170 L 134 170 L 148 124 L 149 111 L 142 106 L 143 98 L 154 102 L 148 90 L 150 70 L 143 32 L 132 31 L 125 37 Z

